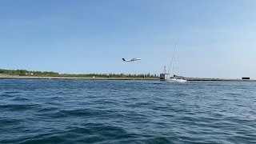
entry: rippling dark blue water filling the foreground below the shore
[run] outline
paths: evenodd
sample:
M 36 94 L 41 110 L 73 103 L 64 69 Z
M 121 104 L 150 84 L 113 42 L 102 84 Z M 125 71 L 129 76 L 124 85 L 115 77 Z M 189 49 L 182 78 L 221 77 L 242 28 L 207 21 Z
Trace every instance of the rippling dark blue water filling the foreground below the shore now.
M 0 79 L 0 143 L 256 143 L 256 82 Z

